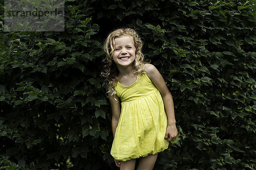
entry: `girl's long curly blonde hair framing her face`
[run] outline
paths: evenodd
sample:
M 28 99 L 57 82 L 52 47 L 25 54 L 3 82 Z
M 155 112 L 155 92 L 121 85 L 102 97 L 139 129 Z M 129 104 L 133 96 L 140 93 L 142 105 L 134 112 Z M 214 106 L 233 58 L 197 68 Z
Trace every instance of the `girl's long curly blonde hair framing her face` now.
M 132 75 L 145 74 L 146 71 L 144 71 L 144 63 L 150 63 L 150 61 L 144 62 L 144 56 L 141 52 L 141 48 L 143 46 L 143 41 L 141 40 L 141 38 L 138 36 L 138 34 L 133 29 L 119 28 L 119 29 L 112 31 L 108 35 L 107 39 L 105 40 L 105 42 L 103 44 L 103 49 L 107 53 L 107 55 L 106 55 L 105 59 L 102 60 L 103 62 L 105 62 L 105 65 L 103 66 L 103 71 L 101 72 L 101 75 L 103 77 L 105 77 L 103 85 L 105 85 L 105 84 L 107 85 L 107 88 L 108 88 L 107 93 L 111 92 L 112 97 L 114 96 L 114 94 L 116 94 L 115 86 L 119 80 L 119 77 L 118 77 L 119 70 L 116 66 L 116 63 L 113 62 L 113 60 L 112 60 L 112 55 L 113 55 L 113 51 L 115 48 L 114 39 L 116 37 L 123 37 L 123 36 L 131 36 L 134 40 L 134 46 L 136 48 Z M 139 77 L 138 77 L 138 79 L 139 79 Z

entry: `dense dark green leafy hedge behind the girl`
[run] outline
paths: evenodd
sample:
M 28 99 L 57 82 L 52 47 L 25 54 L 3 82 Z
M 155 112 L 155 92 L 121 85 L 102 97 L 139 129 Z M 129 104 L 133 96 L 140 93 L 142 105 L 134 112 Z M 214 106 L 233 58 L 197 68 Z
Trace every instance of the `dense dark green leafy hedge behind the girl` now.
M 129 26 L 175 102 L 179 140 L 154 169 L 256 169 L 255 0 L 67 0 L 64 32 L 3 32 L 3 3 L 0 168 L 116 169 L 99 73 Z

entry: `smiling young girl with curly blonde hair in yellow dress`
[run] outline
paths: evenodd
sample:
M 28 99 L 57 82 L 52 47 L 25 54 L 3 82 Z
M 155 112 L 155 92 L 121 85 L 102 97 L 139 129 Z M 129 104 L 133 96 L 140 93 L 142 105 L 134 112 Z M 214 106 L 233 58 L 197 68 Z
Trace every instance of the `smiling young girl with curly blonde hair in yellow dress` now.
M 152 170 L 157 154 L 177 136 L 172 94 L 154 65 L 143 61 L 142 45 L 131 28 L 112 31 L 104 43 L 111 155 L 121 170 L 134 170 L 137 158 L 137 170 Z

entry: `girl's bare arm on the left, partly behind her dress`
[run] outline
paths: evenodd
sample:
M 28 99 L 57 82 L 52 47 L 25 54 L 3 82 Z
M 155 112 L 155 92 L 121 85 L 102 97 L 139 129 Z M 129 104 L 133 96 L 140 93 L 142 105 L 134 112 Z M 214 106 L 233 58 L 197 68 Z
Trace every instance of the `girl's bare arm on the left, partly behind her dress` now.
M 113 99 L 113 97 L 118 102 L 115 99 Z M 112 110 L 112 119 L 111 119 L 112 132 L 113 132 L 113 137 L 115 137 L 116 127 L 118 125 L 118 121 L 121 113 L 120 102 L 119 102 L 119 97 L 116 94 L 114 96 L 111 96 L 110 93 L 108 93 L 108 99 L 110 101 L 111 110 Z

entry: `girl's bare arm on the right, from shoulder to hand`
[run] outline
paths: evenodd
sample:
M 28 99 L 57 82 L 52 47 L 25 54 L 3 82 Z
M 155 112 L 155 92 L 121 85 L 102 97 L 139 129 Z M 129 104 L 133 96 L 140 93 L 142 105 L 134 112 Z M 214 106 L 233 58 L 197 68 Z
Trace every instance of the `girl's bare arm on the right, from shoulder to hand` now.
M 145 69 L 147 71 L 148 77 L 160 91 L 160 94 L 163 98 L 164 107 L 166 109 L 166 113 L 168 116 L 168 127 L 166 129 L 165 138 L 168 139 L 169 141 L 175 141 L 177 137 L 177 128 L 172 94 L 167 88 L 162 75 L 159 73 L 157 68 L 154 67 L 154 65 L 145 64 Z

